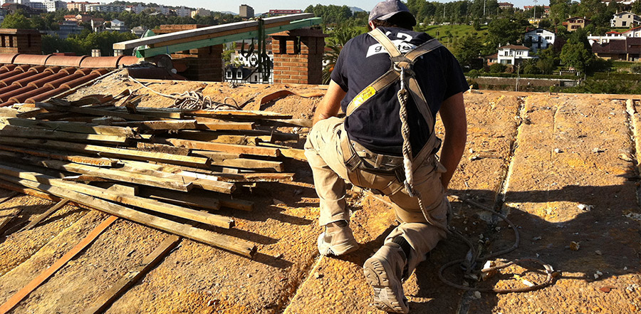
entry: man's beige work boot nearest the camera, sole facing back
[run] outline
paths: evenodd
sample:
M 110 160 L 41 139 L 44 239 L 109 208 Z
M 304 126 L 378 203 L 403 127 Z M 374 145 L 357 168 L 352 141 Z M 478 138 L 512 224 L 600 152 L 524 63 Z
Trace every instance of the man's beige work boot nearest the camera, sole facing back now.
M 374 289 L 374 305 L 387 313 L 408 313 L 410 304 L 403 293 L 402 276 L 407 258 L 402 248 L 387 243 L 363 265 L 365 279 Z

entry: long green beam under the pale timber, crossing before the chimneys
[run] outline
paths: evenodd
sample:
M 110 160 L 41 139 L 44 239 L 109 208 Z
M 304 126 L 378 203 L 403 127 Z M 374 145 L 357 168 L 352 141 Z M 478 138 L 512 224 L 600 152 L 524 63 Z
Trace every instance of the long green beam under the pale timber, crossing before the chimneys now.
M 291 31 L 293 29 L 297 28 L 303 28 L 307 26 L 313 26 L 313 25 L 318 25 L 320 24 L 322 19 L 320 17 L 318 18 L 311 18 L 311 19 L 304 19 L 301 21 L 293 21 L 287 25 L 283 26 L 277 26 L 277 27 L 272 27 L 272 28 L 266 28 L 265 33 L 268 35 L 271 33 L 278 33 L 281 31 Z M 171 46 L 164 46 L 164 47 L 157 47 L 157 48 L 142 48 L 136 51 L 136 56 L 138 58 L 149 58 L 152 56 L 158 56 L 162 54 L 170 54 L 174 53 L 177 51 L 186 51 L 189 49 L 196 49 L 196 48 L 202 48 L 202 47 L 208 47 L 208 46 L 215 46 L 219 45 L 221 43 L 229 43 L 232 41 L 241 41 L 243 39 L 249 39 L 249 38 L 256 38 L 258 36 L 258 29 L 256 31 L 248 31 L 245 33 L 237 33 L 234 35 L 228 35 L 228 36 L 222 36 L 222 37 L 216 37 L 216 38 L 210 38 L 210 39 L 204 39 L 201 41 L 191 41 L 188 43 L 179 43 L 176 45 L 171 45 Z

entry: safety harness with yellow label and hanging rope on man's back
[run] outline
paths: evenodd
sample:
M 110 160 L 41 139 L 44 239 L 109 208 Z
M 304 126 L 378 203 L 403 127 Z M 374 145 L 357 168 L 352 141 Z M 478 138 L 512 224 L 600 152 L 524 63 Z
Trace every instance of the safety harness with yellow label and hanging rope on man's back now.
M 439 41 L 432 38 L 429 41 L 426 41 L 420 46 L 408 51 L 407 53 L 401 53 L 395 43 L 393 43 L 390 38 L 388 38 L 385 33 L 383 33 L 380 28 L 375 28 L 370 31 L 370 36 L 372 36 L 380 45 L 385 48 L 385 51 L 390 56 L 392 61 L 392 66 L 390 70 L 387 70 L 385 74 L 377 78 L 372 82 L 368 87 L 363 89 L 355 98 L 349 103 L 347 107 L 346 116 L 351 115 L 355 110 L 361 108 L 363 105 L 367 104 L 368 101 L 372 101 L 372 97 L 376 95 L 380 90 L 390 87 L 390 85 L 395 85 L 400 81 L 400 90 L 397 93 L 397 98 L 400 103 L 400 120 L 401 120 L 401 132 L 403 137 L 403 158 L 402 158 L 402 174 L 404 176 L 400 177 L 400 181 L 404 183 L 407 194 L 410 194 L 410 197 L 417 197 L 419 206 L 423 211 L 425 219 L 430 221 L 429 216 L 425 213 L 424 206 L 421 201 L 419 192 L 414 189 L 414 176 L 413 172 L 418 167 L 419 164 L 422 164 L 424 159 L 429 158 L 434 155 L 434 153 L 439 149 L 440 140 L 434 132 L 434 115 L 432 115 L 432 110 L 429 109 L 427 100 L 422 93 L 422 90 L 419 88 L 418 82 L 416 80 L 416 73 L 414 72 L 414 64 L 417 59 L 423 56 L 426 53 L 432 52 L 435 49 L 442 46 Z M 430 130 L 427 143 L 424 145 L 422 150 L 414 155 L 412 154 L 412 146 L 410 145 L 410 125 L 407 122 L 407 100 L 412 97 L 414 103 L 417 106 L 417 109 L 421 113 L 425 122 L 429 127 L 432 127 Z M 350 150 L 353 152 L 350 158 L 345 160 L 345 165 L 349 168 L 354 168 L 357 166 L 362 166 L 362 159 L 355 154 L 353 148 L 350 146 Z M 399 167 L 400 168 L 400 167 Z M 374 169 L 367 168 L 366 171 L 375 172 Z M 394 169 L 392 169 L 393 171 Z M 402 177 L 402 178 L 401 178 Z M 431 221 L 430 221 L 431 222 Z

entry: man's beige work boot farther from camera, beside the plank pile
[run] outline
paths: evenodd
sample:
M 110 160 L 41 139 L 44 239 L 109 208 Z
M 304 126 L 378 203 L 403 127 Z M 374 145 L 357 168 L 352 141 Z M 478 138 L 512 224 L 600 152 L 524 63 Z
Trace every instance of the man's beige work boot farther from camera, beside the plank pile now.
M 358 242 L 347 221 L 340 220 L 325 226 L 325 232 L 318 236 L 318 252 L 322 255 L 340 256 L 355 251 Z

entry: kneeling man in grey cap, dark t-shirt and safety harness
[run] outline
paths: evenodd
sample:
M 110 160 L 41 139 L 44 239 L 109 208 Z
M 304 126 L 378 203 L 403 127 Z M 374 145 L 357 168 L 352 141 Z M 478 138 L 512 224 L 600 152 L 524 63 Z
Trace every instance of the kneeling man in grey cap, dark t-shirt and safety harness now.
M 385 194 L 400 223 L 363 266 L 375 306 L 408 313 L 402 282 L 447 234 L 445 191 L 463 155 L 467 82 L 457 60 L 399 0 L 377 4 L 370 33 L 343 47 L 305 145 L 320 198 L 318 251 L 358 249 L 345 208 L 345 180 Z M 345 112 L 345 119 L 337 117 Z M 439 112 L 441 147 L 434 133 Z

